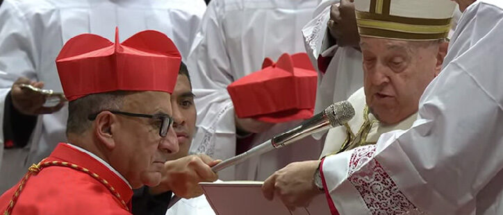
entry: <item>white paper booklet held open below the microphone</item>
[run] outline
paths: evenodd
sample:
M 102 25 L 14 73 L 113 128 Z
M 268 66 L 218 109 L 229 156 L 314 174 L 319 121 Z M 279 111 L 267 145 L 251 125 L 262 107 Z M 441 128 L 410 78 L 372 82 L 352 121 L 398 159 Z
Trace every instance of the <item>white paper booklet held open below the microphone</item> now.
M 315 196 L 311 205 L 290 211 L 279 200 L 270 201 L 262 194 L 263 182 L 230 181 L 199 183 L 208 203 L 217 215 L 330 215 L 327 198 L 324 194 Z

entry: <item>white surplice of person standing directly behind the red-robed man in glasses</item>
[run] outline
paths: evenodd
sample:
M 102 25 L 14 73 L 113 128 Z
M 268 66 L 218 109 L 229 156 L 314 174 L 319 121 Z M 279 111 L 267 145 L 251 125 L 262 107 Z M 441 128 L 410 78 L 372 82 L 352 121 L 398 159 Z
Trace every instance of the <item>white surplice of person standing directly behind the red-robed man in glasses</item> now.
M 24 148 L 3 150 L 3 110 L 6 95 L 19 77 L 44 81 L 46 89 L 63 92 L 56 56 L 63 44 L 81 33 L 121 41 L 139 31 L 165 33 L 186 58 L 206 10 L 201 0 L 6 0 L 0 7 L 0 193 L 10 188 L 56 147 L 66 141 L 67 107 L 40 115 Z M 22 122 L 19 122 L 22 123 Z

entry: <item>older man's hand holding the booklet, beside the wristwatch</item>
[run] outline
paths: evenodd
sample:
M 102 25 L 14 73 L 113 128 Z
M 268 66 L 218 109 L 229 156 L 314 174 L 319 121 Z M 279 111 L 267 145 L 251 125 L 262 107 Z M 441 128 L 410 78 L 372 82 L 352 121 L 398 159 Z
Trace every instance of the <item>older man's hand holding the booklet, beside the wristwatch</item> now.
M 294 162 L 276 171 L 262 186 L 265 198 L 272 200 L 277 196 L 290 210 L 307 207 L 321 191 L 313 182 L 319 160 Z

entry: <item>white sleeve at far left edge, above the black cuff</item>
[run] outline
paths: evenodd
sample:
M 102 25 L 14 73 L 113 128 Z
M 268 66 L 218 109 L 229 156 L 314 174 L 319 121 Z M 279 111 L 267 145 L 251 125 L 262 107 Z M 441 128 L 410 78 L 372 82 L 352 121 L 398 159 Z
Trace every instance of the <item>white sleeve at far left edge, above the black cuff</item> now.
M 37 79 L 38 54 L 30 27 L 15 1 L 3 1 L 0 7 L 0 161 L 6 96 L 17 78 Z

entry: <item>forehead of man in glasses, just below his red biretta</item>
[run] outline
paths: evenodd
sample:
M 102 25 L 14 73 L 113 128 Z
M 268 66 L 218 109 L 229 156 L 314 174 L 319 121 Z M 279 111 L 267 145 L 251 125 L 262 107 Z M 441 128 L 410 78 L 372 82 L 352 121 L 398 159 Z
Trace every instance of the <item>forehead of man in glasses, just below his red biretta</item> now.
M 124 109 L 145 114 L 154 112 L 171 113 L 171 95 L 167 92 L 135 92 L 124 98 Z

